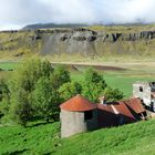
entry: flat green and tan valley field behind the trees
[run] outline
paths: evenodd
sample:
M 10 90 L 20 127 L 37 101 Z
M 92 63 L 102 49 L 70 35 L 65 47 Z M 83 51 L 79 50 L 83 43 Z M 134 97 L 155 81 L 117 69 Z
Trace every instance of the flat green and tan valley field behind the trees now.
M 100 68 L 93 64 L 94 69 L 97 69 L 103 75 L 106 83 L 115 89 L 120 89 L 125 97 L 130 97 L 132 95 L 132 85 L 136 81 L 155 81 L 155 63 L 154 62 L 136 62 L 136 63 L 107 63 L 108 65 L 101 65 Z M 0 69 L 4 71 L 0 71 L 0 79 L 4 78 L 9 70 L 14 70 L 17 68 L 17 62 L 0 62 Z M 126 69 L 124 70 L 107 70 L 106 68 L 117 66 L 117 69 Z M 86 66 L 87 68 L 87 66 Z M 66 68 L 71 72 L 71 78 L 75 81 L 83 80 L 83 72 L 86 69 L 85 66 L 76 65 L 78 70 L 74 70 L 70 65 Z M 104 70 L 106 69 L 106 70 Z

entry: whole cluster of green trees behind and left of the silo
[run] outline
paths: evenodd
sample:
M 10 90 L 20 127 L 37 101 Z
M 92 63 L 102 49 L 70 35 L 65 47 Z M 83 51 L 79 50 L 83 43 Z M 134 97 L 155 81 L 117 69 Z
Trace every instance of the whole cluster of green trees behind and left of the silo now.
M 34 118 L 55 122 L 59 105 L 76 94 L 94 103 L 101 95 L 108 101 L 123 99 L 120 90 L 110 87 L 103 74 L 91 68 L 84 72 L 84 80 L 78 82 L 62 65 L 52 68 L 49 61 L 29 60 L 9 80 L 0 81 L 0 116 L 23 126 Z

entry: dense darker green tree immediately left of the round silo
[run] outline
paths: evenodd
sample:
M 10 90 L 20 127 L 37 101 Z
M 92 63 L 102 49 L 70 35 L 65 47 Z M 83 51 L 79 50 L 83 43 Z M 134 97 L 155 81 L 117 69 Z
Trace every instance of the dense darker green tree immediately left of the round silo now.
M 46 122 L 58 120 L 60 97 L 48 78 L 40 78 L 32 92 L 33 106 Z

